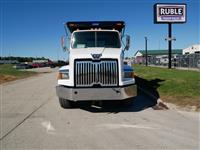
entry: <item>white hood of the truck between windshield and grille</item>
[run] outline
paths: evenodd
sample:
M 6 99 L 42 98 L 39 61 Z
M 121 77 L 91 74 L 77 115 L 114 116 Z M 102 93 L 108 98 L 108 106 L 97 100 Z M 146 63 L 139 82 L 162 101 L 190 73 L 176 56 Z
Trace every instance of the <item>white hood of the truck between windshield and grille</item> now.
M 114 58 L 119 59 L 121 56 L 121 49 L 120 48 L 78 48 L 78 49 L 71 49 L 70 56 L 71 59 L 79 59 L 79 58 L 91 58 L 92 54 L 102 54 L 100 58 Z

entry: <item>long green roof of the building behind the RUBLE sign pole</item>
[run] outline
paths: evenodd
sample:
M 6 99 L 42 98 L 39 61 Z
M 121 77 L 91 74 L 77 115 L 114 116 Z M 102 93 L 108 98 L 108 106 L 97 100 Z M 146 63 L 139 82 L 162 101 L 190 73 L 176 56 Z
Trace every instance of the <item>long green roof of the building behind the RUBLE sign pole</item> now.
M 142 55 L 146 54 L 145 50 L 138 50 L 135 53 L 135 56 L 137 53 L 141 53 Z M 168 50 L 147 50 L 148 55 L 168 55 Z M 182 54 L 182 49 L 173 49 L 172 54 Z

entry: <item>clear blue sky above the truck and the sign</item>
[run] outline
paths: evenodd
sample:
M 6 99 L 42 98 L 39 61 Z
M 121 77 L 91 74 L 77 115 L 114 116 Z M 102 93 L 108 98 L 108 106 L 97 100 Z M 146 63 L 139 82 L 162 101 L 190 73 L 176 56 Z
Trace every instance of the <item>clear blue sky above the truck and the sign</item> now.
M 145 36 L 148 49 L 168 49 L 168 25 L 153 21 L 155 3 L 187 4 L 187 22 L 172 25 L 173 49 L 200 43 L 199 0 L 0 0 L 0 54 L 66 60 L 60 39 L 68 21 L 125 21 L 127 57 L 145 48 Z

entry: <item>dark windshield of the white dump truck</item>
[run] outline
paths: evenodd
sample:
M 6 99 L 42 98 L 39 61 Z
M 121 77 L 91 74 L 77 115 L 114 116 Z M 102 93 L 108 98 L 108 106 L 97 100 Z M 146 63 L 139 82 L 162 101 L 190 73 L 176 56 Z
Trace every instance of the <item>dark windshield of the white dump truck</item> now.
M 120 48 L 119 34 L 110 31 L 75 32 L 72 40 L 72 48 L 87 47 Z

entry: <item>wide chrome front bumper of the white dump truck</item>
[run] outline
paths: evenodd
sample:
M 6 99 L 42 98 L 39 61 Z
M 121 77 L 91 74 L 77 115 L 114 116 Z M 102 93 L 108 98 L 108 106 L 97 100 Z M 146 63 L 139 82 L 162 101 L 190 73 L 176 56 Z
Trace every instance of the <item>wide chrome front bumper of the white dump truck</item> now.
M 56 86 L 56 94 L 59 98 L 71 101 L 123 100 L 137 96 L 137 86 L 132 84 L 113 88 L 72 88 L 59 85 Z

